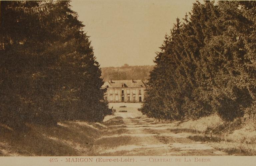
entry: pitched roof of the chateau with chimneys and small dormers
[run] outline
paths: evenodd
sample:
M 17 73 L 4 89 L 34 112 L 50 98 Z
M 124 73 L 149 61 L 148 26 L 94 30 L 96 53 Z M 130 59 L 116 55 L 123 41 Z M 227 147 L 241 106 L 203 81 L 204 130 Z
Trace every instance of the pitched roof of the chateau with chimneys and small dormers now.
M 106 88 L 107 86 L 110 88 L 122 88 L 122 84 L 124 88 L 146 88 L 146 84 L 142 80 L 111 80 L 105 81 L 102 85 L 102 88 Z

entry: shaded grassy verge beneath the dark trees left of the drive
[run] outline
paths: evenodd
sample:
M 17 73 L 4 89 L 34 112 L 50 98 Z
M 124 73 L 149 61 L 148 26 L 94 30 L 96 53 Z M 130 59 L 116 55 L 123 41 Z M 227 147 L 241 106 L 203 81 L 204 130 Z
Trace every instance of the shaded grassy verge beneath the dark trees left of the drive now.
M 112 123 L 121 124 L 121 120 L 104 124 L 65 121 L 52 127 L 26 124 L 23 131 L 0 125 L 0 156 L 90 156 L 96 139 L 113 134 L 106 131 Z

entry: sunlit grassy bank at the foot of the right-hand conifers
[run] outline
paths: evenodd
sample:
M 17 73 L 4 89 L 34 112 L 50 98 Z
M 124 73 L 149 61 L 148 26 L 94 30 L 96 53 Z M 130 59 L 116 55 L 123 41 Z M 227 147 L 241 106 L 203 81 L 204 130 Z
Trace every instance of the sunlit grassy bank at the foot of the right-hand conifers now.
M 195 121 L 175 122 L 171 132 L 191 133 L 193 141 L 208 142 L 229 155 L 256 155 L 256 126 L 243 118 L 224 122 L 217 115 Z

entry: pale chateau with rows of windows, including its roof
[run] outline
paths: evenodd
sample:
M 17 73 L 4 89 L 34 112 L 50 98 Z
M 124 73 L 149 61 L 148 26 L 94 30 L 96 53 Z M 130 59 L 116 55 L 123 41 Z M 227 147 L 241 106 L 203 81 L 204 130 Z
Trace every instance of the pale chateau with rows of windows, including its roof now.
M 139 103 L 144 101 L 146 84 L 142 80 L 110 80 L 102 88 L 107 88 L 104 100 L 109 103 Z

